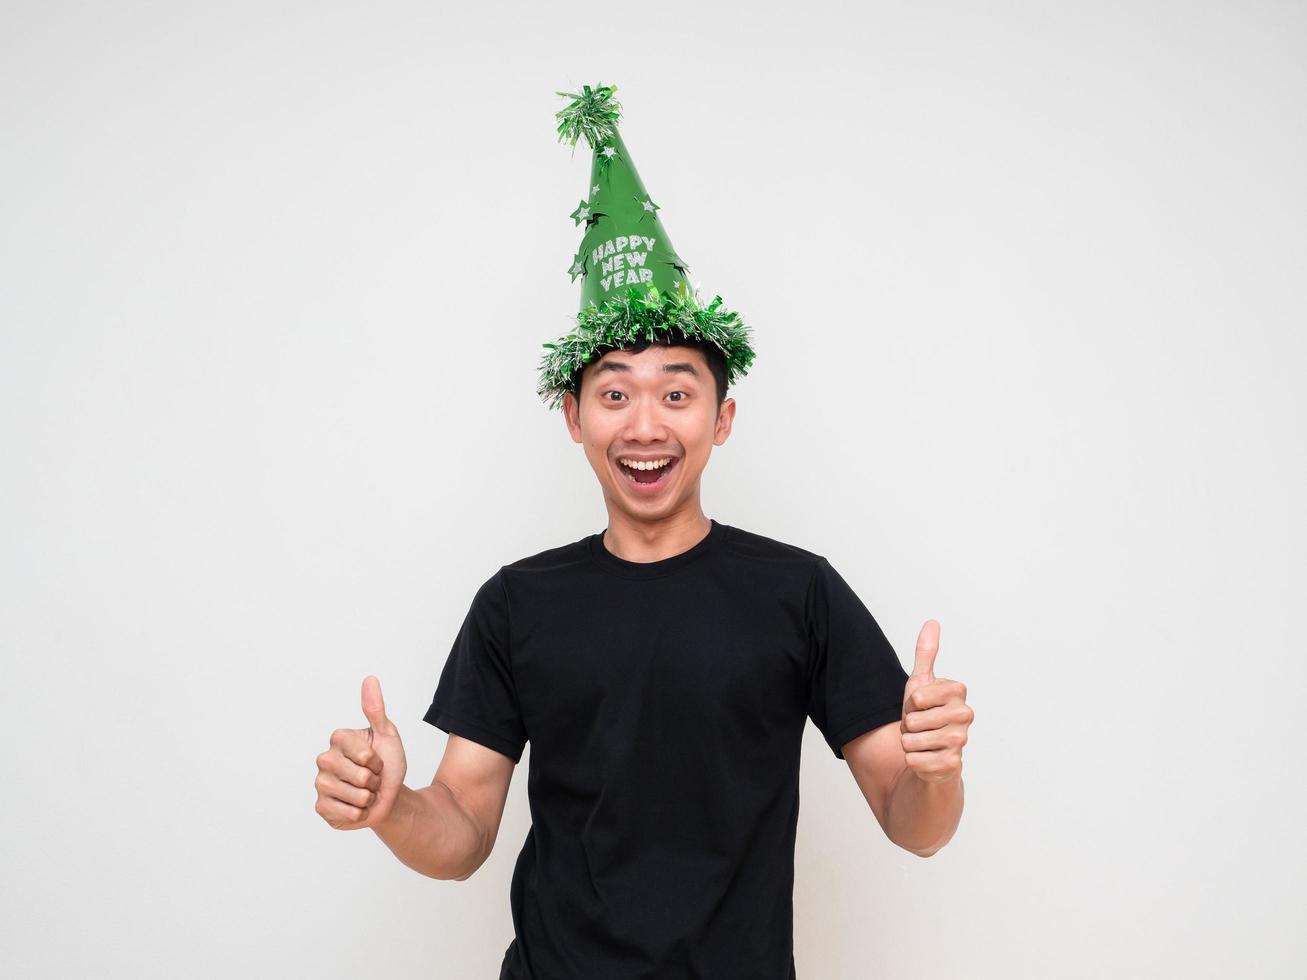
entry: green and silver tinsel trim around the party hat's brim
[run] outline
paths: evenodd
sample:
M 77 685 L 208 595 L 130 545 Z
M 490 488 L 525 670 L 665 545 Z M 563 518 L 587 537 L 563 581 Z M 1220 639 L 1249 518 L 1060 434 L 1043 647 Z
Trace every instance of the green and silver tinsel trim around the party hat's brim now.
M 685 336 L 715 344 L 727 361 L 727 385 L 744 378 L 753 365 L 749 328 L 740 314 L 721 308 L 721 297 L 699 306 L 690 294 L 660 293 L 654 286 L 640 291 L 630 286 L 625 295 L 587 306 L 576 325 L 548 348 L 540 361 L 536 391 L 550 409 L 561 408 L 574 376 L 596 355 L 637 340 Z

